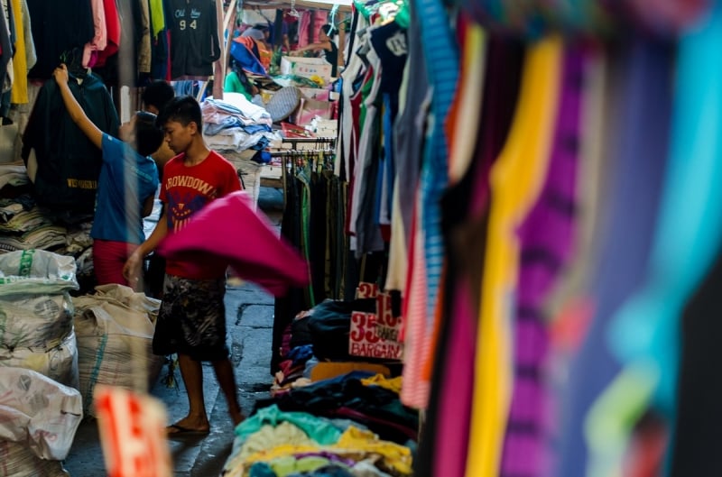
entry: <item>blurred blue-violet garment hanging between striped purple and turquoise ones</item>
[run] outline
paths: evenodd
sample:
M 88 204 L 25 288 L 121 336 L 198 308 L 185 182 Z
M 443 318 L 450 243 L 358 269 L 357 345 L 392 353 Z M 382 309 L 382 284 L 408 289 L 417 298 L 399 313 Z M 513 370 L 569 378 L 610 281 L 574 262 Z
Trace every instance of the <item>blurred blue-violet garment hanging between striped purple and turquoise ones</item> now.
M 662 187 L 666 143 L 650 138 L 667 137 L 669 130 L 671 45 L 633 38 L 617 52 L 606 65 L 608 91 L 618 93 L 606 97 L 609 124 L 616 127 L 607 143 L 608 219 L 598 231 L 603 235 L 589 289 L 597 307 L 560 401 L 560 462 L 553 472 L 559 477 L 585 475 L 585 419 L 620 369 L 603 336 L 618 307 L 642 283 Z

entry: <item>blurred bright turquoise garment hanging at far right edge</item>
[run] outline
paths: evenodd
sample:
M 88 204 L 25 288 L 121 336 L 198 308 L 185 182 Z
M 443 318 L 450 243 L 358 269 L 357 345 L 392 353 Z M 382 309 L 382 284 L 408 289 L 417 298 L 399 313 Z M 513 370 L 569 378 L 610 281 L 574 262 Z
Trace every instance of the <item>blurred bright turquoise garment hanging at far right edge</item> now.
M 722 238 L 722 2 L 713 5 L 680 37 L 669 165 L 651 263 L 642 289 L 610 330 L 611 349 L 626 367 L 653 368 L 652 404 L 670 419 L 676 409 L 682 308 Z

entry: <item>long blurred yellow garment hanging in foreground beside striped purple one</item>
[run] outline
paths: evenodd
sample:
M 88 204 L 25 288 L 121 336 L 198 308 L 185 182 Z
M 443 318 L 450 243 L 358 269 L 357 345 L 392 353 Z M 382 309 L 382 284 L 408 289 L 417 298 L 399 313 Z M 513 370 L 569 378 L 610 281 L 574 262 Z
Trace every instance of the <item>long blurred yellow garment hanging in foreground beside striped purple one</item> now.
M 562 42 L 553 36 L 532 44 L 509 136 L 490 172 L 481 310 L 474 363 L 474 400 L 467 477 L 495 477 L 512 395 L 512 316 L 519 269 L 516 228 L 541 192 L 556 122 Z

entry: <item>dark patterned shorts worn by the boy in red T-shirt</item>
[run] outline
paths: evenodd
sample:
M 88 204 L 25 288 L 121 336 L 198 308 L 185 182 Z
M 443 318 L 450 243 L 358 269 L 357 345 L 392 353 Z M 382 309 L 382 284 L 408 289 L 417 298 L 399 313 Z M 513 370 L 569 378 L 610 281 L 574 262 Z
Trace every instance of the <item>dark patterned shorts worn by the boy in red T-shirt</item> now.
M 190 280 L 166 275 L 153 353 L 187 354 L 196 361 L 228 357 L 226 280 Z

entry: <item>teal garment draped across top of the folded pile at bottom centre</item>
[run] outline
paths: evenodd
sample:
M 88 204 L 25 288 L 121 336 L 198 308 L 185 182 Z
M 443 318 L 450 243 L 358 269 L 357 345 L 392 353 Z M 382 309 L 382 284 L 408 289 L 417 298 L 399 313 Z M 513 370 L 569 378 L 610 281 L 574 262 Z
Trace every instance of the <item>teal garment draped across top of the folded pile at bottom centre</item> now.
M 305 412 L 282 412 L 274 404 L 269 408 L 259 409 L 254 416 L 248 417 L 239 424 L 235 431 L 236 439 L 245 440 L 248 436 L 260 430 L 264 424 L 277 426 L 283 421 L 299 427 L 320 445 L 335 444 L 341 436 L 341 431 L 333 426 L 328 419 L 315 417 Z

